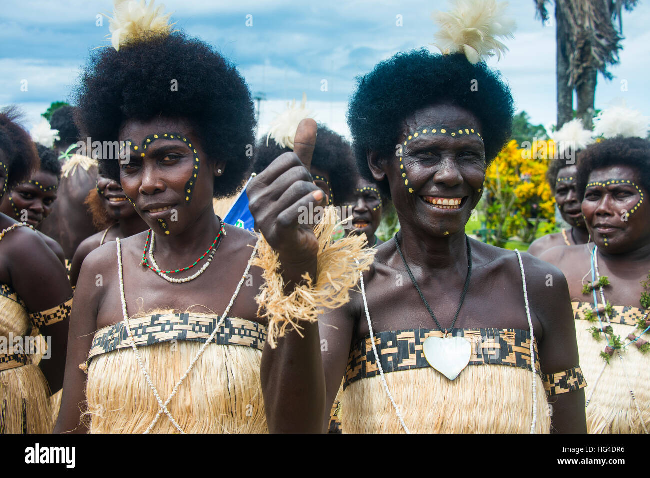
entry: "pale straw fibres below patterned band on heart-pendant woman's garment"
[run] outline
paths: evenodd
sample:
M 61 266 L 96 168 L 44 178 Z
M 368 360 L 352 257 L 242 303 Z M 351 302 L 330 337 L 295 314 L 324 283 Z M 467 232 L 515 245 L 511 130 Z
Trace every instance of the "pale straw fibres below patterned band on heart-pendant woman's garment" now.
M 451 381 L 433 368 L 385 374 L 411 433 L 530 433 L 531 373 L 506 365 L 469 365 Z M 537 433 L 549 433 L 544 384 L 537 380 Z M 346 387 L 343 433 L 403 433 L 379 375 Z

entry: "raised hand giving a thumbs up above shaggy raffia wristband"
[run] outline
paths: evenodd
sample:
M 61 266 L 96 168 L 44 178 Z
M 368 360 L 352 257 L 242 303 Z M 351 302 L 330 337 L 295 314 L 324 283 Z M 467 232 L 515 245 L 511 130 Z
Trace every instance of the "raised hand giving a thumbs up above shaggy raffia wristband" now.
M 255 229 L 278 253 L 283 268 L 296 273 L 315 267 L 318 240 L 313 224 L 303 224 L 304 208 L 326 205 L 324 192 L 313 183 L 311 158 L 316 146 L 317 124 L 303 119 L 298 125 L 293 153 L 284 153 L 248 184 L 250 211 Z M 293 274 L 289 274 L 293 275 Z

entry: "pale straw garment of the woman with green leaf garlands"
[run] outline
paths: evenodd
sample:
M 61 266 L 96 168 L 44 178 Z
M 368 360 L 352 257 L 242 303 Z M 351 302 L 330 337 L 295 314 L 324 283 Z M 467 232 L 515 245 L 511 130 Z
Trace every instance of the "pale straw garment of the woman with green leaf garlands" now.
M 627 383 L 623 366 L 630 377 L 632 390 L 634 390 L 636 401 L 643 414 L 645 426 L 650 429 L 650 354 L 643 355 L 634 345 L 630 345 L 621 352 L 624 360 L 624 363 L 621 364 L 618 353 L 614 352 L 610 358 L 610 364 L 606 366 L 603 375 L 596 384 L 604 364 L 600 353 L 607 344 L 604 338 L 595 340 L 587 330 L 593 325 L 599 327 L 599 323 L 582 320 L 584 305 L 585 303 L 573 302 L 577 319 L 575 329 L 580 351 L 580 366 L 589 384 L 585 389 L 586 397 L 590 397 L 593 392 L 593 397 L 591 397 L 586 410 L 587 429 L 589 433 L 643 433 L 641 418 L 632 401 L 630 386 Z M 627 323 L 633 323 L 632 320 L 629 320 L 629 316 L 639 314 L 641 316 L 642 312 L 636 307 L 625 307 L 625 311 L 623 311 L 622 307 L 615 306 L 614 310 L 612 319 L 614 334 L 620 335 L 624 343 L 628 342 L 625 338 L 634 332 L 635 328 L 634 325 L 627 325 Z M 627 312 L 627 316 L 623 315 L 623 312 Z M 639 333 L 638 329 L 636 329 L 636 333 Z M 650 333 L 645 333 L 643 339 L 650 341 Z M 596 385 L 595 392 L 593 391 L 594 385 Z

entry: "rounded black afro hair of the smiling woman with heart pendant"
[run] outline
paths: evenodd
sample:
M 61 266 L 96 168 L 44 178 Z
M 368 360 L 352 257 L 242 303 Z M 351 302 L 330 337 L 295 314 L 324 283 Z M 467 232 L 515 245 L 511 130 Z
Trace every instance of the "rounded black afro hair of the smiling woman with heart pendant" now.
M 426 49 L 398 53 L 357 78 L 350 100 L 348 125 L 361 175 L 375 181 L 367 154 L 395 157 L 404 119 L 415 111 L 447 103 L 471 111 L 482 125 L 489 164 L 507 144 L 514 106 L 510 87 L 485 63 L 471 64 L 465 55 L 434 55 Z M 476 88 L 473 88 L 476 86 Z M 474 90 L 474 91 L 473 91 Z M 390 197 L 388 180 L 380 184 Z

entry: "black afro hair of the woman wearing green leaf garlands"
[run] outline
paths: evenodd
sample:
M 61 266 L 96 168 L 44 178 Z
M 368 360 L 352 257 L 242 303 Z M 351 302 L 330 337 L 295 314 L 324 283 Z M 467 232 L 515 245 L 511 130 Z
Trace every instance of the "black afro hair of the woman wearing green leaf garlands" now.
M 611 166 L 631 166 L 641 175 L 641 186 L 650 191 L 650 141 L 623 138 L 594 143 L 578 155 L 578 197 L 584 197 L 591 171 Z

